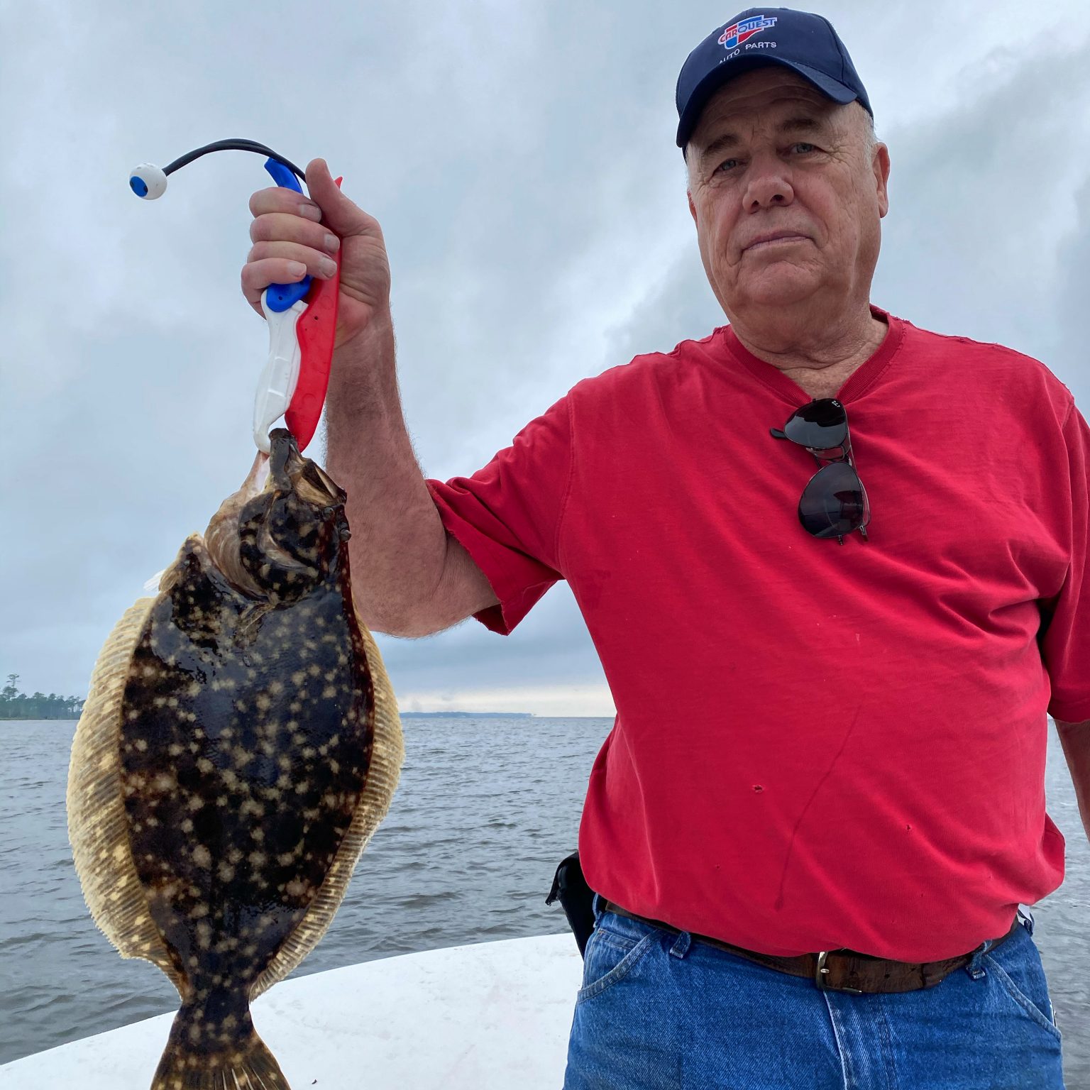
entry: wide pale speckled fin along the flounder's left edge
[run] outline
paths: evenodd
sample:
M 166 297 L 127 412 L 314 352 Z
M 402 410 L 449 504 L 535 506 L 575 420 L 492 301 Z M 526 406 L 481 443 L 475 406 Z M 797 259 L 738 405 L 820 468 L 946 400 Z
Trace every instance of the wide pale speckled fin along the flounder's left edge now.
M 184 979 L 170 960 L 136 873 L 121 791 L 121 716 L 133 651 L 156 598 L 141 598 L 99 652 L 90 692 L 72 741 L 66 791 L 69 840 L 90 915 L 122 957 L 157 965 L 179 993 Z

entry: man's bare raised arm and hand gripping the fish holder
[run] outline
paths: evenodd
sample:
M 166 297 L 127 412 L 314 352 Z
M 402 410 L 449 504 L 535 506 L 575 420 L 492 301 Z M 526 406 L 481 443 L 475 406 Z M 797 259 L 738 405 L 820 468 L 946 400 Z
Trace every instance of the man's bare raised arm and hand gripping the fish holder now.
M 353 585 L 364 622 L 392 635 L 427 635 L 496 605 L 496 595 L 444 530 L 405 431 L 382 229 L 337 189 L 324 160 L 308 165 L 306 184 L 313 199 L 280 187 L 251 197 L 254 245 L 242 270 L 243 293 L 261 313 L 268 284 L 307 272 L 329 277 L 329 255 L 343 249 L 326 468 L 349 496 Z

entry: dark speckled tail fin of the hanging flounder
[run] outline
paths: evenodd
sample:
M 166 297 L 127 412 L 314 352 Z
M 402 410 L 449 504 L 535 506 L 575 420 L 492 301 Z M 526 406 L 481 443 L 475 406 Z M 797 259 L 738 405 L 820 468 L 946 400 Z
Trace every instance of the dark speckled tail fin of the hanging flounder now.
M 150 1090 L 291 1090 L 249 1010 L 230 1028 L 204 1014 L 192 1004 L 178 1012 Z

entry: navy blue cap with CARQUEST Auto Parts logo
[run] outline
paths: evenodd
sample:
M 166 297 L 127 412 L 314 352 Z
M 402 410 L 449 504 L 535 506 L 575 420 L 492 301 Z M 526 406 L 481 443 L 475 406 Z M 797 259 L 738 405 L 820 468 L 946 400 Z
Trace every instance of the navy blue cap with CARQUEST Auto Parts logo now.
M 728 80 L 763 64 L 783 64 L 834 102 L 870 99 L 848 50 L 827 19 L 790 8 L 749 8 L 713 31 L 686 59 L 678 75 L 678 147 L 689 143 L 707 100 Z

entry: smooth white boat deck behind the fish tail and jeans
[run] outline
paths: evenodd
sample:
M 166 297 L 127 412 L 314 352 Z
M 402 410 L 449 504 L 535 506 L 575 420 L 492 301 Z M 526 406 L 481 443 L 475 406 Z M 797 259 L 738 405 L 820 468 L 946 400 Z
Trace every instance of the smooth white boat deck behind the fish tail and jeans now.
M 571 935 L 543 935 L 282 981 L 252 1010 L 292 1090 L 556 1090 L 581 974 Z M 172 1019 L 16 1059 L 0 1088 L 147 1090 Z

